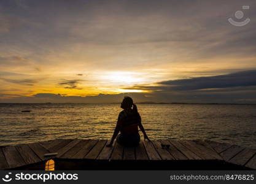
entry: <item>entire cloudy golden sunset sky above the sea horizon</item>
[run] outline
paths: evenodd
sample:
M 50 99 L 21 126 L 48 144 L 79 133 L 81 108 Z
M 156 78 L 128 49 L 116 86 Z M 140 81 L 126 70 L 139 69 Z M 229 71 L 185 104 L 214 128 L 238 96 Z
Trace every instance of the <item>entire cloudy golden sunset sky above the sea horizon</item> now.
M 1 0 L 0 82 L 0 102 L 256 103 L 256 1 Z

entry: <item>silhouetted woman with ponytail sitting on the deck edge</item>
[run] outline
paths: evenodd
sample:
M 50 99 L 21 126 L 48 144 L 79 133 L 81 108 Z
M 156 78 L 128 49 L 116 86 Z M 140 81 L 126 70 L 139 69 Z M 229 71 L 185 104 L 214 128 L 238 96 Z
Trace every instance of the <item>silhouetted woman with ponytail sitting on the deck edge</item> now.
M 144 140 L 149 140 L 149 137 L 147 137 L 145 129 L 141 124 L 141 116 L 139 115 L 137 106 L 133 104 L 133 99 L 131 99 L 129 96 L 125 96 L 123 102 L 121 103 L 121 108 L 123 110 L 118 115 L 114 134 L 112 136 L 111 142 L 107 145 L 107 147 L 112 146 L 119 131 L 120 134 L 117 137 L 118 144 L 124 145 L 126 147 L 138 145 L 140 141 L 138 127 L 141 129 L 144 135 Z

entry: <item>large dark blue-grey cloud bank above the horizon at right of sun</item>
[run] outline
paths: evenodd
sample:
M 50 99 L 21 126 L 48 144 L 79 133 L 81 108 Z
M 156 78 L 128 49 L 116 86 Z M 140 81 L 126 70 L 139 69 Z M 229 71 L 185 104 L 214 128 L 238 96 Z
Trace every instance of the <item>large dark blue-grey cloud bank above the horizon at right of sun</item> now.
M 148 90 L 150 101 L 196 103 L 255 103 L 256 71 L 211 77 L 166 80 L 155 85 L 136 85 L 129 90 Z

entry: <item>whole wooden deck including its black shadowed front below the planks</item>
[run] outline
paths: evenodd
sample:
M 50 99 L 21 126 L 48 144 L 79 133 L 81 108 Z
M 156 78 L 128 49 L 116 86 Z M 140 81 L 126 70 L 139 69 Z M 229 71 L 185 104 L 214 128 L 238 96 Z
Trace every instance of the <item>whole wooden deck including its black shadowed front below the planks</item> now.
M 58 153 L 57 170 L 256 169 L 256 150 L 209 140 L 142 141 L 137 147 L 109 140 L 56 139 L 0 147 L 0 169 L 44 170 L 45 153 Z M 170 145 L 162 148 L 161 144 Z

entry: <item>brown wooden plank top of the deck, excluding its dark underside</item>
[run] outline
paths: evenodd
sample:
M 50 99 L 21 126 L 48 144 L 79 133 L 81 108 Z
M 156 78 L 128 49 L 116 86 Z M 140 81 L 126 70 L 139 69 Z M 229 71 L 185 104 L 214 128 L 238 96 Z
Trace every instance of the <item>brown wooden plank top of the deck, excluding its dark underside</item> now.
M 256 150 L 209 140 L 142 141 L 136 147 L 106 147 L 108 143 L 109 140 L 56 139 L 0 147 L 0 169 L 44 163 L 44 154 L 55 152 L 56 159 L 65 161 L 223 161 L 256 169 Z M 169 148 L 162 148 L 161 144 Z

